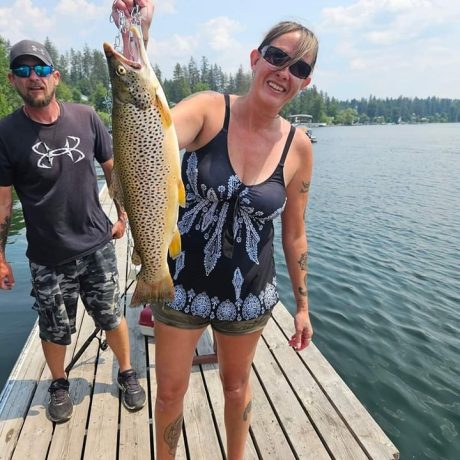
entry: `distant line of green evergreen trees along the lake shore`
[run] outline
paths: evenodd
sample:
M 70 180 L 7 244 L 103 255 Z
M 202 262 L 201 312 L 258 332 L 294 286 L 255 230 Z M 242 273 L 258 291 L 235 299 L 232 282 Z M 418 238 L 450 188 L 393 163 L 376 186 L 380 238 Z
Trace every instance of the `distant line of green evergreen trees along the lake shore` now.
M 57 90 L 58 98 L 92 105 L 104 122 L 110 125 L 109 76 L 102 50 L 91 50 L 85 46 L 82 51 L 71 49 L 60 54 L 49 39 L 46 39 L 45 45 L 62 76 Z M 21 104 L 6 77 L 9 48 L 10 43 L 0 36 L 0 117 Z M 204 56 L 199 64 L 194 58 L 190 58 L 187 65 L 177 63 L 171 79 L 163 78 L 157 65 L 154 69 L 171 104 L 197 91 L 209 89 L 244 94 L 251 81 L 251 74 L 241 66 L 236 74 L 225 73 Z M 314 122 L 328 124 L 460 122 L 460 100 L 402 96 L 378 99 L 370 96 L 339 101 L 312 86 L 283 110 L 284 116 L 299 113 L 312 115 Z

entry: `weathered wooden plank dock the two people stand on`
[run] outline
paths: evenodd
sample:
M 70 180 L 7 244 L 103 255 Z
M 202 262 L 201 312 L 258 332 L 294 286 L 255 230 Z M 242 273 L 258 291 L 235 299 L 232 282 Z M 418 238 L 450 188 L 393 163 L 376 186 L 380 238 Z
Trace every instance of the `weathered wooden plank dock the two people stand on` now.
M 101 194 L 111 217 L 114 209 Z M 122 302 L 129 304 L 133 282 L 127 238 L 116 242 Z M 79 309 L 78 332 L 67 359 L 94 331 Z M 0 395 L 0 459 L 154 459 L 155 341 L 140 333 L 140 308 L 126 308 L 133 367 L 148 393 L 148 404 L 129 413 L 120 403 L 117 362 L 97 340 L 72 368 L 72 419 L 53 424 L 45 404 L 50 372 L 45 365 L 37 326 L 32 330 Z M 314 344 L 300 353 L 288 345 L 292 316 L 275 307 L 253 364 L 253 422 L 246 459 L 398 459 L 396 447 L 372 419 Z M 212 353 L 206 332 L 197 355 Z M 223 395 L 217 364 L 193 367 L 184 409 L 184 428 L 177 459 L 225 458 Z

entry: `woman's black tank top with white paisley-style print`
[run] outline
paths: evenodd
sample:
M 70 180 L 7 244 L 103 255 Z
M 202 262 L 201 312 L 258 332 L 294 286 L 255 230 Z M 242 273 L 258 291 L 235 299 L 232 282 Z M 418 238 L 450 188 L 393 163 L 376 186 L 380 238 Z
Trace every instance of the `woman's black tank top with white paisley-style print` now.
M 170 307 L 204 318 L 244 321 L 278 302 L 273 220 L 286 203 L 283 167 L 295 128 L 273 174 L 246 186 L 230 163 L 230 100 L 224 97 L 222 129 L 202 148 L 184 154 L 186 207 L 178 223 L 182 252 L 169 261 L 175 284 Z

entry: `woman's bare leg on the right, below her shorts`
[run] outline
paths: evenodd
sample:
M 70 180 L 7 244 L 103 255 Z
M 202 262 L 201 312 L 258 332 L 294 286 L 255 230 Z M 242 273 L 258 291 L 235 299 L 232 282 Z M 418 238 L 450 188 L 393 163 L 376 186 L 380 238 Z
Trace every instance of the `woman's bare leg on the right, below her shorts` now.
M 251 364 L 262 331 L 225 335 L 215 331 L 219 373 L 225 397 L 227 460 L 242 460 L 251 423 Z

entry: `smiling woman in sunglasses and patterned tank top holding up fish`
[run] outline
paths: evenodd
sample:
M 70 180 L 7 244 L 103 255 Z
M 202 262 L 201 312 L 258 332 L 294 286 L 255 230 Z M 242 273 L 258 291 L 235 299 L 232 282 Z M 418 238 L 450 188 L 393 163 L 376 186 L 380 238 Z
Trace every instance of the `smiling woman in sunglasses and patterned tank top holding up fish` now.
M 153 6 L 138 1 L 144 39 Z M 130 11 L 132 0 L 115 9 Z M 214 330 L 225 398 L 227 458 L 242 459 L 250 425 L 249 376 L 257 342 L 278 300 L 273 219 L 297 303 L 289 344 L 302 350 L 313 330 L 307 297 L 305 211 L 312 173 L 307 136 L 279 116 L 310 83 L 318 43 L 303 26 L 273 27 L 250 54 L 244 96 L 203 92 L 173 109 L 187 204 L 179 216 L 182 253 L 170 261 L 175 299 L 156 305 L 156 452 L 174 458 L 194 350 Z

